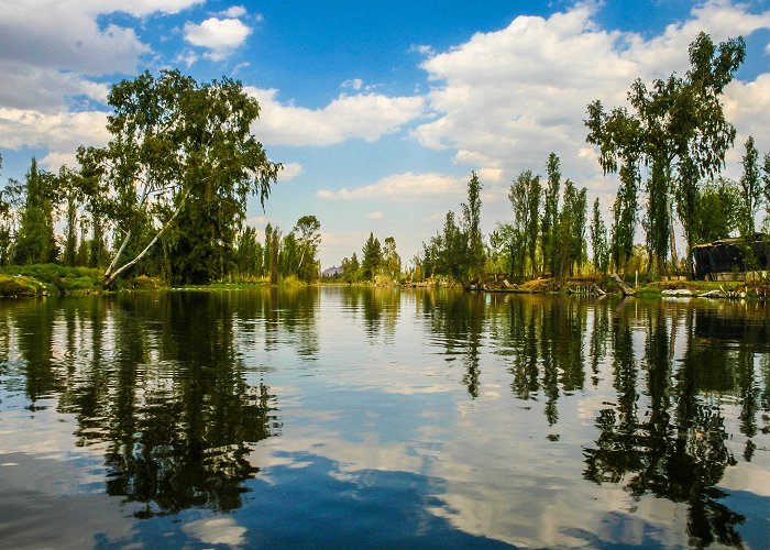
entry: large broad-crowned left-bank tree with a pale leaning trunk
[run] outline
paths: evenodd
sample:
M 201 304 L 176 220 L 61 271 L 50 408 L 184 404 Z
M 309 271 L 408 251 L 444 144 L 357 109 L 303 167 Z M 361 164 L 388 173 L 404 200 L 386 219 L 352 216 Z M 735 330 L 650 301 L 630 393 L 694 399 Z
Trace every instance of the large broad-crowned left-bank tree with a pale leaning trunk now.
M 251 124 L 260 107 L 239 81 L 198 84 L 178 70 L 144 73 L 114 85 L 107 147 L 81 150 L 91 176 L 107 182 L 116 252 L 105 284 L 133 266 L 164 232 L 176 230 L 177 257 L 200 280 L 222 263 L 244 219 L 246 199 L 264 207 L 279 164 L 268 161 Z M 185 245 L 179 246 L 184 240 Z M 133 256 L 123 261 L 123 256 Z M 185 257 L 182 257 L 182 256 Z

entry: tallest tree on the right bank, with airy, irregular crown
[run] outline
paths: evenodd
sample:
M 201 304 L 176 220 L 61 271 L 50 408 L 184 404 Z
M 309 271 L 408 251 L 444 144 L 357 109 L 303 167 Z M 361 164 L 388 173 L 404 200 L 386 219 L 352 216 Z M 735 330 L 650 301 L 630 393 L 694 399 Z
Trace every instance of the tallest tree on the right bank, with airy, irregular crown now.
M 688 256 L 695 244 L 698 186 L 725 163 L 735 141 L 735 128 L 725 120 L 721 96 L 746 57 L 741 37 L 715 45 L 701 33 L 690 45 L 690 69 L 672 74 L 648 88 L 637 79 L 628 92 L 634 109 L 605 113 L 601 101 L 588 106 L 587 141 L 600 146 L 605 174 L 620 165 L 648 168 L 647 231 L 650 253 L 660 267 L 671 249 L 678 264 L 672 231 L 673 207 L 684 228 Z M 628 185 L 628 182 L 624 183 Z M 636 193 L 635 193 L 636 194 Z

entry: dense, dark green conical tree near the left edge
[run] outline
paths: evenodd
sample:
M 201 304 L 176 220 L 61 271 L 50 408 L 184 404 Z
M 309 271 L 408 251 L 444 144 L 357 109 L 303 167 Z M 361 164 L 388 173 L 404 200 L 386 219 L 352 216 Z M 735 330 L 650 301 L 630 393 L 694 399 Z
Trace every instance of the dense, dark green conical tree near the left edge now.
M 32 158 L 24 179 L 24 206 L 20 216 L 13 261 L 16 264 L 55 262 L 58 255 L 54 237 L 56 186 L 53 174 L 40 170 Z

